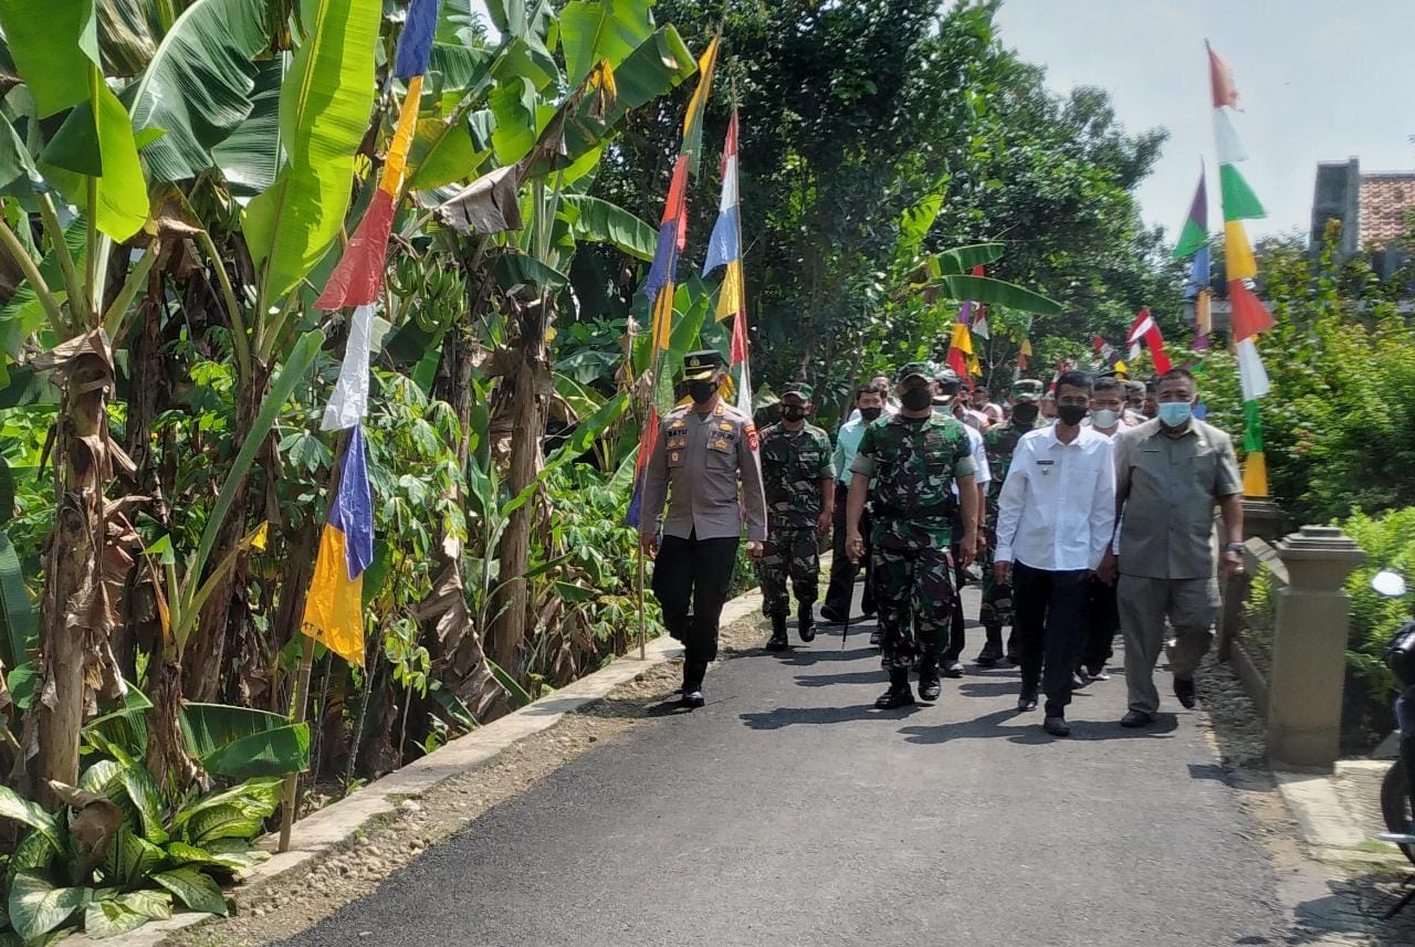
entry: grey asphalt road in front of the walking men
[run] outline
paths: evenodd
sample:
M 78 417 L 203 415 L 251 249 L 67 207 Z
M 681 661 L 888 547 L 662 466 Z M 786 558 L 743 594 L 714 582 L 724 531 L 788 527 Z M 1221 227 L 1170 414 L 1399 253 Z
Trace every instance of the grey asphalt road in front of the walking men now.
M 727 661 L 706 708 L 591 749 L 287 943 L 1283 943 L 1194 712 L 1124 731 L 1116 676 L 1054 741 L 1015 712 L 1015 670 L 969 666 L 935 707 L 882 714 L 867 629 Z

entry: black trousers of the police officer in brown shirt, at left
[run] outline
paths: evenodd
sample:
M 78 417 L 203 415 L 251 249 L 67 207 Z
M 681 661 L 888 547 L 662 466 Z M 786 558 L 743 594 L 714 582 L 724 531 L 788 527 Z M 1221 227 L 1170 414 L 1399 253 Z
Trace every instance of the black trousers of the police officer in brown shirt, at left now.
M 703 686 L 717 657 L 717 619 L 737 564 L 736 536 L 700 540 L 665 536 L 654 560 L 654 595 L 664 606 L 668 633 L 683 643 L 683 690 Z M 691 609 L 691 612 L 689 612 Z

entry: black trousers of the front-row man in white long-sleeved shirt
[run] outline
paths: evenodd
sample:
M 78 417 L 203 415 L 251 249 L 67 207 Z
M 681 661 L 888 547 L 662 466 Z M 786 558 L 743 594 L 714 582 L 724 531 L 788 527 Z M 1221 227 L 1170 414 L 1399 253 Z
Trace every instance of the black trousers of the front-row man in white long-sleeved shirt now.
M 1041 686 L 1047 715 L 1064 715 L 1071 673 L 1087 626 L 1087 570 L 1049 571 L 1012 565 L 1013 632 L 1023 687 Z

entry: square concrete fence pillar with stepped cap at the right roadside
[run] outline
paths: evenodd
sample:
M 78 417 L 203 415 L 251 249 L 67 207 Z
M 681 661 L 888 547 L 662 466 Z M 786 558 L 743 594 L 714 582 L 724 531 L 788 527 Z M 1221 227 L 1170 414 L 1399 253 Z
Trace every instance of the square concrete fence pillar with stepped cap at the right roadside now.
M 1329 770 L 1341 735 L 1351 620 L 1343 585 L 1365 553 L 1330 526 L 1303 526 L 1276 548 L 1288 585 L 1278 592 L 1272 642 L 1268 759 L 1289 769 Z

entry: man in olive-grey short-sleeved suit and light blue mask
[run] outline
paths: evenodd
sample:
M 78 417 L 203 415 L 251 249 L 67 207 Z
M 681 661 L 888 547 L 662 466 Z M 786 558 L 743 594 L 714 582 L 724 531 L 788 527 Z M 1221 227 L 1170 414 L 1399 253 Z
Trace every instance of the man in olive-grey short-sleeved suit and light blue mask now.
M 1194 376 L 1166 372 L 1157 417 L 1115 435 L 1115 509 L 1119 539 L 1097 570 L 1115 581 L 1125 637 L 1129 711 L 1122 727 L 1145 727 L 1159 710 L 1155 664 L 1165 619 L 1174 629 L 1174 697 L 1194 707 L 1194 669 L 1213 640 L 1218 613 L 1214 505 L 1223 510 L 1221 568 L 1242 568 L 1242 475 L 1232 441 L 1193 417 Z M 1118 550 L 1118 557 L 1116 557 Z

